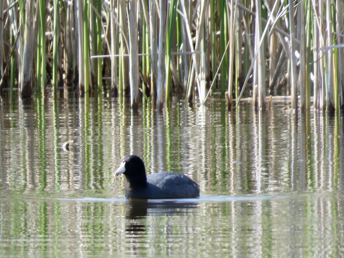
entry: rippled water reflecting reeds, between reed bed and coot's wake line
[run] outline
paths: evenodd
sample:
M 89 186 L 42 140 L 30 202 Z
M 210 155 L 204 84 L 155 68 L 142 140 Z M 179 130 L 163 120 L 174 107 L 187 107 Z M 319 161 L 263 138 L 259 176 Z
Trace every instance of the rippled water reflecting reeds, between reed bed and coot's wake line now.
M 200 183 L 203 194 L 343 189 L 343 118 L 292 114 L 279 106 L 252 114 L 224 103 L 190 108 L 173 103 L 159 113 L 132 113 L 112 99 L 60 99 L 1 108 L 1 180 L 24 192 L 104 193 L 128 153 L 147 173 L 174 170 Z M 113 105 L 114 104 L 114 105 Z M 89 107 L 85 110 L 85 107 Z M 73 139 L 70 151 L 61 146 Z M 115 179 L 111 194 L 123 194 Z M 99 190 L 99 191 L 98 191 Z

